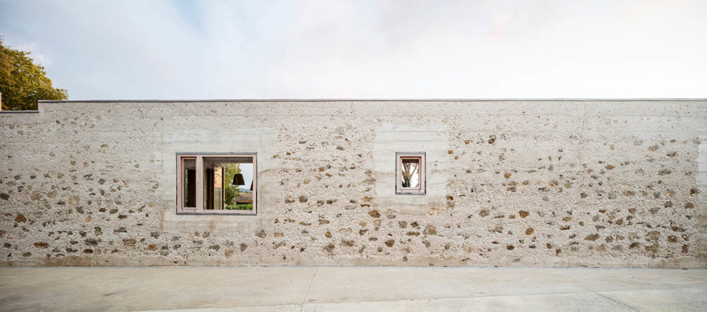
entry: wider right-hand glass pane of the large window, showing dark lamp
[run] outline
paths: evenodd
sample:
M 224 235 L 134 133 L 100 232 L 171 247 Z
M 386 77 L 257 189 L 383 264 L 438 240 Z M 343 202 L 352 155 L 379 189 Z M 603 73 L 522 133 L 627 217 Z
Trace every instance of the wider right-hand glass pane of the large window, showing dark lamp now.
M 252 210 L 252 183 L 252 157 L 204 157 L 204 210 Z

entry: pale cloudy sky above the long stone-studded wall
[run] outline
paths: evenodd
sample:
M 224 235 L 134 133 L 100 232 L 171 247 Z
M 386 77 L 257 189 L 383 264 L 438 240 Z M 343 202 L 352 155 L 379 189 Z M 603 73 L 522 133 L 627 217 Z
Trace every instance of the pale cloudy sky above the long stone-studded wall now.
M 707 1 L 0 2 L 71 100 L 707 98 Z

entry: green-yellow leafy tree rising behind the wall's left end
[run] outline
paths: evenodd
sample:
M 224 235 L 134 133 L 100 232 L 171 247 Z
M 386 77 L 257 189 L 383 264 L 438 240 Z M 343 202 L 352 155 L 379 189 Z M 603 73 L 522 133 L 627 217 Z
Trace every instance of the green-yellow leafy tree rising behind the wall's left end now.
M 37 100 L 66 100 L 65 89 L 54 88 L 47 72 L 29 57 L 13 50 L 0 37 L 0 93 L 4 110 L 36 110 Z

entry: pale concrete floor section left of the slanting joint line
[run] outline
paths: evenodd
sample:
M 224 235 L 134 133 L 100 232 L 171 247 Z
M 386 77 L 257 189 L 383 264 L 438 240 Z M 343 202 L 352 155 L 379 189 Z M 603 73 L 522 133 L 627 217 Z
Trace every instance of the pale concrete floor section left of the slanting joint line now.
M 314 272 L 314 267 L 4 268 L 0 270 L 0 310 L 302 304 Z

